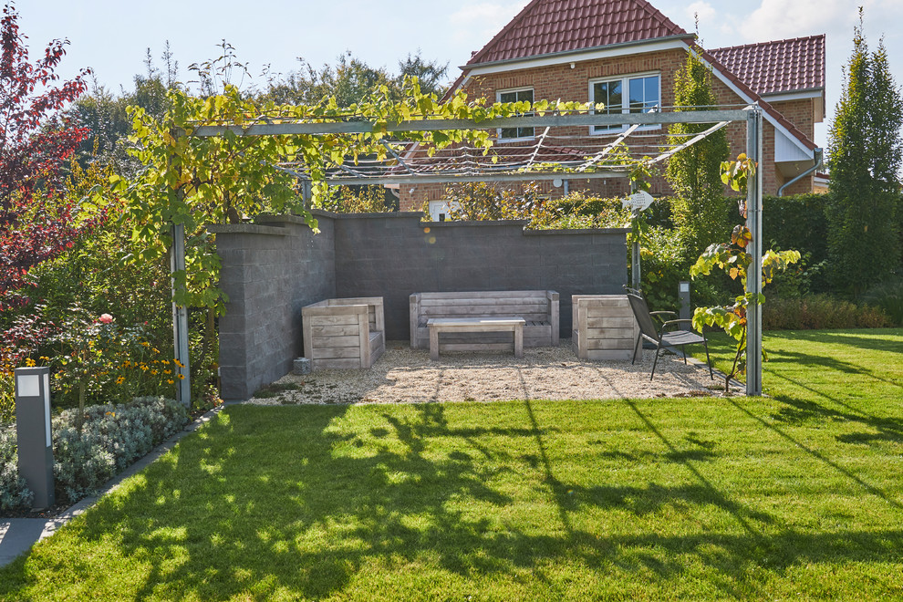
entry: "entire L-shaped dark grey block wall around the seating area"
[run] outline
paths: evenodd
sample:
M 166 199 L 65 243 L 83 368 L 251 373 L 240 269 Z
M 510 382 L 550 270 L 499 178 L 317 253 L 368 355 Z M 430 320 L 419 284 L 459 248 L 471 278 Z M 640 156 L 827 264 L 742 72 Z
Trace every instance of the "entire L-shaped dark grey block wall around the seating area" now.
M 529 232 L 523 222 L 314 213 L 316 235 L 285 216 L 212 226 L 230 297 L 220 319 L 224 399 L 246 399 L 291 370 L 303 349 L 301 308 L 323 299 L 381 296 L 387 339 L 407 340 L 412 293 L 552 289 L 560 336 L 570 337 L 571 295 L 618 295 L 627 283 L 624 229 Z

